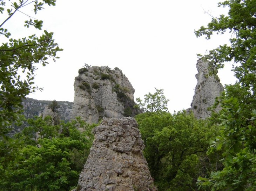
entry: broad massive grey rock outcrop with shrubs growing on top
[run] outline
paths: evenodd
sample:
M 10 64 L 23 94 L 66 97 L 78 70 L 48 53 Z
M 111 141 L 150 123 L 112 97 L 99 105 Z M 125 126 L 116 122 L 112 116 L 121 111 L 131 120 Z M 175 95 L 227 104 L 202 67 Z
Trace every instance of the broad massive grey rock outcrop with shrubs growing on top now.
M 119 68 L 86 67 L 74 83 L 75 97 L 71 119 L 80 116 L 87 123 L 103 117 L 134 116 L 134 88 Z

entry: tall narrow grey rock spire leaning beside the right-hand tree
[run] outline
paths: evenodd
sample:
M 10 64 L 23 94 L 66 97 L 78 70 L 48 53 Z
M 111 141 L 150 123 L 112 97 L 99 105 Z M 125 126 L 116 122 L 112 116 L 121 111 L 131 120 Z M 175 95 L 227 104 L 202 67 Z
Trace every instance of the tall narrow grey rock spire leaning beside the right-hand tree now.
M 220 79 L 216 75 L 218 71 L 215 69 L 215 75 L 209 75 L 209 61 L 197 60 L 196 68 L 198 73 L 196 74 L 197 85 L 195 88 L 195 94 L 191 103 L 191 108 L 196 118 L 207 118 L 210 116 L 208 107 L 212 106 L 215 102 L 215 98 L 220 96 L 224 90 Z M 216 112 L 221 108 L 218 106 Z

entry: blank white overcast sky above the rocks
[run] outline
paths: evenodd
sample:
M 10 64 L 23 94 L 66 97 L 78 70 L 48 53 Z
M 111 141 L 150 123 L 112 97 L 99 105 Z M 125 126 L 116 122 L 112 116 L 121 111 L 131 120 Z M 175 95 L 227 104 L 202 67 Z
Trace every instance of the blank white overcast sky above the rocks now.
M 54 32 L 64 49 L 60 59 L 38 67 L 35 85 L 42 87 L 28 97 L 37 100 L 74 100 L 74 78 L 85 63 L 118 67 L 135 89 L 134 97 L 164 89 L 170 112 L 190 107 L 196 86 L 196 54 L 229 43 L 231 34 L 207 41 L 194 30 L 211 17 L 227 13 L 220 0 L 57 0 L 55 7 L 33 15 L 43 20 L 43 29 Z M 29 9 L 29 10 L 28 10 Z M 2 18 L 4 19 L 4 18 Z M 27 16 L 17 13 L 4 25 L 13 38 L 42 31 L 22 27 Z M 3 36 L 0 37 L 4 41 Z M 234 83 L 231 64 L 219 71 L 222 84 Z

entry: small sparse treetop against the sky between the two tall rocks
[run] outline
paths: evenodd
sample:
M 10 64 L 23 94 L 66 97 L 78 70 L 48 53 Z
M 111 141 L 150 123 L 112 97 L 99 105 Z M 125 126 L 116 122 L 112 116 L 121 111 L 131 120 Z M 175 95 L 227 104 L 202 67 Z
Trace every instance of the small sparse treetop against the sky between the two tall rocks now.
M 143 112 L 160 112 L 160 111 L 168 111 L 167 103 L 169 100 L 165 98 L 163 95 L 163 89 L 156 89 L 154 94 L 150 92 L 144 95 L 144 103 L 140 98 L 136 98 L 138 102 L 135 106 L 136 108 L 140 108 Z

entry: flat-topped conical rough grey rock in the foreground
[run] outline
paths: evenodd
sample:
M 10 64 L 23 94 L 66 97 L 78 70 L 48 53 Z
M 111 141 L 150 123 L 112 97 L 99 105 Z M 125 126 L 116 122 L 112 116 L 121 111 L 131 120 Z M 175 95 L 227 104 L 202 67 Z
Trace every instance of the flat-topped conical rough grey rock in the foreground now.
M 103 118 L 80 174 L 77 191 L 156 191 L 134 118 Z M 75 189 L 73 190 L 75 191 Z

